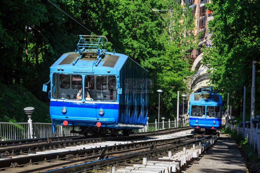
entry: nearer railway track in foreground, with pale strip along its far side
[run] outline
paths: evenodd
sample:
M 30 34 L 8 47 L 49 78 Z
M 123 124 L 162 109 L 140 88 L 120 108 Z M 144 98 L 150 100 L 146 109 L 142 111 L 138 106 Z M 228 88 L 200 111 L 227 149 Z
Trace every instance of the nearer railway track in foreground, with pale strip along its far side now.
M 130 136 L 128 140 L 94 141 L 88 139 L 88 142 L 70 143 L 68 146 L 50 146 L 41 151 L 1 156 L 0 169 L 2 172 L 71 172 L 70 169 L 81 170 L 84 167 L 85 171 L 91 171 L 110 164 L 132 162 L 132 159 L 152 158 L 155 155 L 206 140 L 205 136 L 196 136 L 190 134 L 190 131 L 158 137 L 136 135 Z M 110 137 L 110 139 L 113 138 Z M 77 168 L 75 165 L 78 165 Z M 60 167 L 65 168 L 61 170 Z

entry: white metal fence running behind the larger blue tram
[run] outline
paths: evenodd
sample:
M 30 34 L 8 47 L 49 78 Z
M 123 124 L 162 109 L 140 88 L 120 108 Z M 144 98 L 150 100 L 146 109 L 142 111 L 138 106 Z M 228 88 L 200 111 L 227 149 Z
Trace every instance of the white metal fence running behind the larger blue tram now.
M 143 129 L 139 129 L 139 132 L 155 131 L 160 129 L 168 129 L 174 127 L 182 127 L 189 123 L 189 118 L 185 118 L 179 121 L 163 121 L 157 123 L 146 123 Z M 71 126 L 57 126 L 56 131 L 52 133 L 51 123 L 32 123 L 30 128 L 30 122 L 28 123 L 4 123 L 0 122 L 0 137 L 1 140 L 17 140 L 28 138 L 46 138 L 54 136 L 76 136 L 78 134 L 70 133 L 73 127 Z M 74 130 L 79 131 L 79 127 L 75 127 Z

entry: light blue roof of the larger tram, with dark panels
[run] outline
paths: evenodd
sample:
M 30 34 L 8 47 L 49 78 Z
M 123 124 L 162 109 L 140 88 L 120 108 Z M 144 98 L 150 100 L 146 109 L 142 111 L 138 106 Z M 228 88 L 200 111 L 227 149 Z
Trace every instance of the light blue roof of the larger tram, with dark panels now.
M 64 53 L 50 67 L 50 71 L 63 73 L 98 73 L 108 75 L 119 74 L 120 69 L 128 58 L 129 57 L 124 54 L 105 51 L 101 61 L 98 62 L 96 51 L 88 51 L 82 56 L 77 52 L 69 52 Z

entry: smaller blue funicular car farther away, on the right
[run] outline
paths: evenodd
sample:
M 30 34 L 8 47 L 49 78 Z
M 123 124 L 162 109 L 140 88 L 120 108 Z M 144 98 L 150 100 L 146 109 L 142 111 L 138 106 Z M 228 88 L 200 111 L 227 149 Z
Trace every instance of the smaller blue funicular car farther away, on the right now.
M 222 96 L 212 87 L 201 87 L 201 92 L 190 94 L 190 127 L 219 130 L 222 128 Z

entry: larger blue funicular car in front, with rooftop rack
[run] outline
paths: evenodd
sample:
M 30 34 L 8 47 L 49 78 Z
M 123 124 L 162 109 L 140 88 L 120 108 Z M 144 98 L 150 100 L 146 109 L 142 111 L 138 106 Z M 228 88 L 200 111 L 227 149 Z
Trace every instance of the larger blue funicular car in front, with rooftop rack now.
M 81 36 L 78 51 L 64 53 L 50 67 L 53 125 L 143 128 L 148 71 L 126 55 L 103 50 L 102 36 L 96 37 Z

